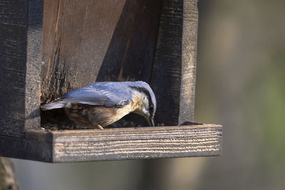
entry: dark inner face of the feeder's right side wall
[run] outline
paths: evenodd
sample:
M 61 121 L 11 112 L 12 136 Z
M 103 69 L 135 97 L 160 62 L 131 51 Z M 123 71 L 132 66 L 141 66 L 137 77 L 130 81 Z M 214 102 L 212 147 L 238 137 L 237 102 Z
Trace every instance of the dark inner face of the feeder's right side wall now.
M 160 105 L 155 121 L 165 125 L 178 125 L 180 115 L 182 3 L 181 0 L 164 1 L 157 36 L 151 84 Z

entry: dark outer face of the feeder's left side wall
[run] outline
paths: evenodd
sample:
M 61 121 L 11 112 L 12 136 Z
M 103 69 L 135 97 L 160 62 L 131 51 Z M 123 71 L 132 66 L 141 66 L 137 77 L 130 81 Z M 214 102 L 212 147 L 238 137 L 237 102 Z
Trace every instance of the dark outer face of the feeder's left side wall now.
M 0 1 L 0 134 L 24 136 L 26 1 Z

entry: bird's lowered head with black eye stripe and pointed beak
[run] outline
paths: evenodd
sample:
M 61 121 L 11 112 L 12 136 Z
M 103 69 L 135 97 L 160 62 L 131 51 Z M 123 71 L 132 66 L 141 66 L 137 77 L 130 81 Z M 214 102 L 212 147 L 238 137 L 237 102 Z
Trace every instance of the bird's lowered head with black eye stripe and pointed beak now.
M 150 85 L 142 81 L 133 82 L 130 88 L 135 91 L 135 97 L 138 98 L 138 109 L 134 112 L 145 117 L 150 126 L 154 127 L 155 122 L 153 119 L 156 110 L 155 93 L 153 93 Z

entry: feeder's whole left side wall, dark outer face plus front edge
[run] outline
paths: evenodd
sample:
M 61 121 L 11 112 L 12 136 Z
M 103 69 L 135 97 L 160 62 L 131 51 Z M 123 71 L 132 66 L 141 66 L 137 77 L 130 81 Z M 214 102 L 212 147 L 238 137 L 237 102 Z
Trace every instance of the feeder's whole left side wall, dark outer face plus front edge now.
M 0 134 L 39 128 L 42 1 L 0 1 Z

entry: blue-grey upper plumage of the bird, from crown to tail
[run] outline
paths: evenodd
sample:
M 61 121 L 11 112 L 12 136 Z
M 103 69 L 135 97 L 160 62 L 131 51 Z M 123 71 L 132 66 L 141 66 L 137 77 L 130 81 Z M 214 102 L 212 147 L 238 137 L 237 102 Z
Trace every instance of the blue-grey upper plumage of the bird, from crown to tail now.
M 41 105 L 42 110 L 65 107 L 68 102 L 82 105 L 103 105 L 105 107 L 125 107 L 133 97 L 133 87 L 150 90 L 152 101 L 156 100 L 150 86 L 142 81 L 136 82 L 97 82 L 83 88 L 70 91 L 61 98 Z

